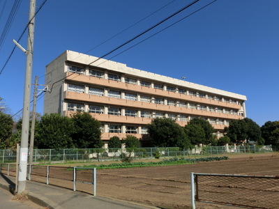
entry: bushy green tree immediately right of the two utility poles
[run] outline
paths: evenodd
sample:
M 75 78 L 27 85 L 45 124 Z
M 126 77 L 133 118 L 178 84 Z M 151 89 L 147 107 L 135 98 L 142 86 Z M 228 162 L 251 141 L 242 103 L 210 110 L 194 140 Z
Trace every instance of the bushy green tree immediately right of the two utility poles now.
M 35 127 L 34 146 L 37 148 L 73 148 L 73 121 L 60 114 L 45 114 Z

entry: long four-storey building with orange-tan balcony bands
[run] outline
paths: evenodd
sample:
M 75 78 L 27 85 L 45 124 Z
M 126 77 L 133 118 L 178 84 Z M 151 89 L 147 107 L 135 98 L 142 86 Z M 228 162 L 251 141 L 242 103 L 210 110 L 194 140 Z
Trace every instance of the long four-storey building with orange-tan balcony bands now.
M 245 95 L 130 68 L 94 56 L 66 51 L 46 68 L 51 93 L 44 113 L 70 116 L 89 112 L 103 124 L 102 139 L 133 134 L 145 139 L 152 118 L 209 121 L 220 137 L 229 121 L 246 117 Z

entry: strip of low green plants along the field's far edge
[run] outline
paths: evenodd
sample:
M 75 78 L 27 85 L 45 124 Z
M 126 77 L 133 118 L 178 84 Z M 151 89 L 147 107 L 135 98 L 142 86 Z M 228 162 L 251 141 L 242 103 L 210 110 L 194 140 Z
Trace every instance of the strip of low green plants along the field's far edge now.
M 84 165 L 84 167 L 94 167 L 97 169 L 124 169 L 132 167 L 158 167 L 165 165 L 177 165 L 177 164 L 193 164 L 197 162 L 210 162 L 210 161 L 220 161 L 228 160 L 229 157 L 199 157 L 199 158 L 184 158 L 184 157 L 172 157 L 167 160 L 162 160 L 160 162 L 123 162 L 123 163 L 112 163 L 112 164 L 91 164 Z

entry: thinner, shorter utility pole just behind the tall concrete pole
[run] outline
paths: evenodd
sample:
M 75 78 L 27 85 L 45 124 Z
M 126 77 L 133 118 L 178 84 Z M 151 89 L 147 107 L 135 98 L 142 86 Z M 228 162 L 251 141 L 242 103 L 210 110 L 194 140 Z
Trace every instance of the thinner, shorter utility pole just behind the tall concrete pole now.
M 35 120 L 36 120 L 37 89 L 38 89 L 38 76 L 36 76 L 35 78 L 35 87 L 33 93 L 31 136 L 30 136 L 30 144 L 29 144 L 29 165 L 33 164 L 33 146 L 34 146 L 34 132 L 35 132 Z

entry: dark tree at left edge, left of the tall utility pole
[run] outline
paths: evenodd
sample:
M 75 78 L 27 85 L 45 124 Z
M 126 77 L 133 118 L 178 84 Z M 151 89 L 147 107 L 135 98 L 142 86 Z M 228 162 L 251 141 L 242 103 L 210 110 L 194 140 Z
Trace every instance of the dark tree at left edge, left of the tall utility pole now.
M 13 118 L 0 111 L 0 149 L 6 148 L 6 141 L 12 137 Z

